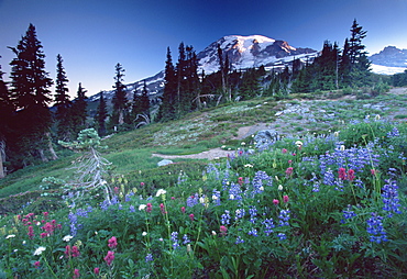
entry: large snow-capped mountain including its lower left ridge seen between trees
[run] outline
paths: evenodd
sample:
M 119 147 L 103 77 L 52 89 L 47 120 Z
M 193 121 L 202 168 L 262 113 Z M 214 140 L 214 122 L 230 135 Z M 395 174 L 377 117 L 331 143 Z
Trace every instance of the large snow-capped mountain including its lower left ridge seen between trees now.
M 296 48 L 287 42 L 274 40 L 261 35 L 224 36 L 211 43 L 208 47 L 197 54 L 198 72 L 205 70 L 206 75 L 219 70 L 218 45 L 220 45 L 224 58 L 231 64 L 231 69 L 246 69 L 252 67 L 265 66 L 266 69 L 284 68 L 294 59 L 300 58 L 306 62 L 318 55 L 318 52 L 311 48 Z M 176 62 L 176 57 L 173 57 Z M 164 71 L 160 71 L 153 77 L 145 79 L 151 100 L 157 100 L 164 89 Z M 133 91 L 143 90 L 144 79 L 127 85 L 128 100 L 132 100 Z M 103 91 L 103 97 L 110 100 L 114 91 Z M 89 98 L 90 102 L 99 100 L 100 94 L 94 94 Z

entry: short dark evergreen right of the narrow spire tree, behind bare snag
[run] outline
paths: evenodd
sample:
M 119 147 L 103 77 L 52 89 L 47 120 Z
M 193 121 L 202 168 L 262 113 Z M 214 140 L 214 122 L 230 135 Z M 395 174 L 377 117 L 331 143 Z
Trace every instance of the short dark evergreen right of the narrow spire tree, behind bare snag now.
M 73 105 L 69 110 L 69 114 L 73 121 L 73 138 L 77 136 L 77 134 L 86 129 L 86 118 L 88 115 L 87 113 L 87 97 L 86 97 L 87 90 L 82 88 L 81 82 L 79 82 L 77 97 L 73 102 Z

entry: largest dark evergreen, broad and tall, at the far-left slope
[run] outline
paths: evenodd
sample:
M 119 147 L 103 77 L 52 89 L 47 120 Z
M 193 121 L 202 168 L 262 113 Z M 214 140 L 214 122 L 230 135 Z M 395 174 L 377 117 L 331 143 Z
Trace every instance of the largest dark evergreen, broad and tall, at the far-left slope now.
M 23 155 L 24 165 L 30 163 L 30 158 L 37 156 L 46 161 L 45 148 L 48 148 L 55 158 L 50 145 L 52 116 L 47 105 L 52 100 L 48 88 L 53 81 L 45 71 L 45 55 L 34 25 L 30 24 L 18 46 L 10 48 L 16 56 L 10 63 L 12 79 L 10 99 L 18 110 L 14 140 L 19 154 Z

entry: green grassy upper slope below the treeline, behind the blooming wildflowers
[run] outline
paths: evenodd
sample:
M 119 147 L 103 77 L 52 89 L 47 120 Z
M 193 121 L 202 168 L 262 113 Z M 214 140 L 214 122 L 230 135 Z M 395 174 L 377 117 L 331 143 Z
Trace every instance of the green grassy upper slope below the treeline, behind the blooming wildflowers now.
M 326 133 L 328 129 L 334 131 L 337 126 L 343 125 L 342 121 L 346 123 L 352 119 L 363 119 L 367 114 L 378 113 L 392 120 L 394 114 L 404 113 L 403 110 L 407 103 L 405 93 L 386 93 L 369 100 L 329 100 L 320 94 L 318 98 L 322 100 L 307 101 L 307 105 L 316 114 L 316 122 L 309 122 L 298 113 L 282 115 L 276 121 L 275 113 L 285 108 L 283 103 L 305 105 L 304 102 L 294 100 L 304 97 L 309 96 L 290 96 L 292 100 L 279 102 L 272 98 L 258 98 L 194 112 L 179 121 L 152 124 L 135 131 L 116 134 L 105 140 L 109 148 L 103 150 L 103 157 L 112 163 L 117 174 L 148 171 L 155 169 L 161 160 L 152 157 L 152 153 L 185 155 L 221 145 L 235 148 L 240 141 L 232 138 L 238 135 L 238 129 L 241 126 L 266 123 L 282 134 Z M 366 108 L 366 104 L 374 103 L 385 103 L 389 110 Z M 327 113 L 331 116 L 327 118 Z M 44 177 L 68 180 L 73 174 L 67 168 L 75 156 L 70 155 L 56 161 L 28 167 L 9 175 L 0 180 L 0 198 L 37 190 Z

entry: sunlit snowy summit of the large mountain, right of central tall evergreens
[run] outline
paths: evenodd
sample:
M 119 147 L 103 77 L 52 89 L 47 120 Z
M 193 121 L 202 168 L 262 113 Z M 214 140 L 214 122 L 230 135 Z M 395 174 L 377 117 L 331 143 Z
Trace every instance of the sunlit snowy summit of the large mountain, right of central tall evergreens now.
M 224 36 L 198 53 L 199 69 L 204 69 L 206 74 L 219 70 L 218 45 L 222 49 L 224 58 L 229 58 L 232 69 L 245 69 L 262 65 L 278 67 L 295 58 L 304 60 L 314 58 L 318 53 L 311 48 L 295 48 L 285 41 L 261 35 Z

